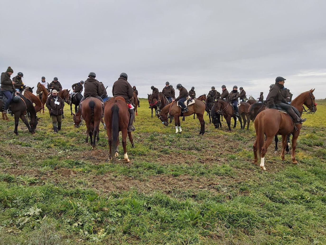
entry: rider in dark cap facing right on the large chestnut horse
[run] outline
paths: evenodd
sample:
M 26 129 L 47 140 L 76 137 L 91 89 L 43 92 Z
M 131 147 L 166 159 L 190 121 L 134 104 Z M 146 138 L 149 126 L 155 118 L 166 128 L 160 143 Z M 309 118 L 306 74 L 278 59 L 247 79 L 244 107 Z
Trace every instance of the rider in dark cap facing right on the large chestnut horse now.
M 286 79 L 284 79 L 283 77 L 276 77 L 275 84 L 272 86 L 266 98 L 267 106 L 270 109 L 277 109 L 276 106 L 281 107 L 281 109 L 284 109 L 288 112 L 295 124 L 303 123 L 307 119 L 302 119 L 299 111 L 294 106 L 290 106 L 289 104 L 287 104 L 286 100 L 282 95 L 281 89 L 283 89 L 284 87 L 285 80 Z

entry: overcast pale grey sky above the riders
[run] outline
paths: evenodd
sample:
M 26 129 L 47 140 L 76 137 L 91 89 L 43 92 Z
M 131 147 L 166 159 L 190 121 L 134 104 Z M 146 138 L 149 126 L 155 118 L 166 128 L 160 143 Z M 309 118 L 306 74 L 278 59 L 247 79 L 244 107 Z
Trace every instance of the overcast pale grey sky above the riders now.
M 277 76 L 325 98 L 326 1 L 2 1 L 0 70 L 27 86 L 89 72 L 109 86 L 128 74 L 139 97 L 178 83 L 199 96 L 233 85 L 267 96 Z M 12 76 L 13 77 L 13 76 Z M 177 92 L 176 92 L 177 94 Z

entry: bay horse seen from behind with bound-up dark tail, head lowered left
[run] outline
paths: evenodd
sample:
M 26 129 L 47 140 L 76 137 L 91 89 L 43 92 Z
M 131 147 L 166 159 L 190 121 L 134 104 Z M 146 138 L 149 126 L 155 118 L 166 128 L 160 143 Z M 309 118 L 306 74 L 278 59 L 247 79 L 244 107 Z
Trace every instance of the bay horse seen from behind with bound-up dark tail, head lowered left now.
M 94 97 L 88 97 L 83 100 L 82 111 L 79 113 L 79 115 L 82 114 L 82 117 L 84 118 L 86 123 L 87 131 L 86 131 L 85 142 L 88 143 L 88 135 L 89 135 L 91 138 L 91 145 L 93 147 L 93 150 L 95 150 L 96 137 L 97 137 L 97 142 L 99 140 L 99 125 L 101 122 L 102 113 L 103 113 L 102 102 L 99 99 Z M 77 117 L 74 116 L 75 126 L 77 125 L 79 126 L 80 122 L 79 120 L 77 120 Z

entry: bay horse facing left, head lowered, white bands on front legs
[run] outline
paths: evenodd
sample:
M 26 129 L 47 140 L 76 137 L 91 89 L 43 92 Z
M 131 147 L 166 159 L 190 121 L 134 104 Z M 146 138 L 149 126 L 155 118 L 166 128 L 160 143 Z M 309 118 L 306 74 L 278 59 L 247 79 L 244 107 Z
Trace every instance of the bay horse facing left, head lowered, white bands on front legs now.
M 171 104 L 171 105 L 170 105 Z M 200 132 L 199 134 L 205 133 L 205 121 L 204 121 L 204 112 L 205 112 L 205 103 L 200 100 L 195 100 L 195 104 L 188 106 L 187 112 L 181 115 L 181 107 L 177 106 L 177 102 L 170 103 L 161 110 L 160 114 L 157 117 L 162 121 L 165 126 L 169 125 L 168 114 L 174 117 L 175 133 L 181 133 L 182 129 L 180 126 L 181 116 L 191 116 L 192 114 L 197 114 L 198 120 L 200 122 Z M 179 129 L 179 132 L 178 132 Z

